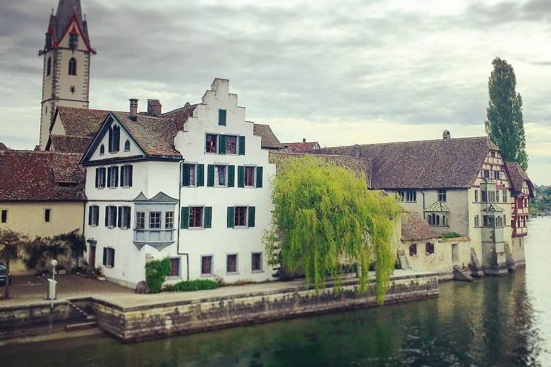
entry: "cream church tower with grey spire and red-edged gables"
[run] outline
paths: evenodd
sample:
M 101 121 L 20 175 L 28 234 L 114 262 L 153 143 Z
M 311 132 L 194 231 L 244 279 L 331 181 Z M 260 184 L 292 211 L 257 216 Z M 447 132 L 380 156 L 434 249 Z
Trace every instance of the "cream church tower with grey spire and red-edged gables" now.
M 95 53 L 80 0 L 60 0 L 56 15 L 52 9 L 44 49 L 39 51 L 44 57 L 40 150 L 48 142 L 56 106 L 88 108 L 90 56 Z

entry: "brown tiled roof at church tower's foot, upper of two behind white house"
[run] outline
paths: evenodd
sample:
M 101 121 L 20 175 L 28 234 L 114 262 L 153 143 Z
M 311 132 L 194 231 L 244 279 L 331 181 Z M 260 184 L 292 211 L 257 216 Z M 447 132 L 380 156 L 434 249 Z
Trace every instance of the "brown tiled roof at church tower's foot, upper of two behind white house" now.
M 57 107 L 56 113 L 61 117 L 66 135 L 94 136 L 109 112 L 102 109 Z

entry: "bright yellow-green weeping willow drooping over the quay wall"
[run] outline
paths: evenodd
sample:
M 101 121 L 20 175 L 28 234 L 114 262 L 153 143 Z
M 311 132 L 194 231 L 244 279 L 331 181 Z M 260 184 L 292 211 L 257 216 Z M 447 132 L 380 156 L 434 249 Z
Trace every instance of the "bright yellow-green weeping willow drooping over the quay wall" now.
M 363 173 L 321 158 L 294 156 L 279 166 L 273 180 L 272 227 L 264 236 L 268 259 L 281 261 L 291 272 L 302 269 L 316 292 L 327 275 L 338 292 L 342 264 L 354 262 L 364 292 L 374 261 L 377 300 L 382 302 L 395 264 L 391 218 L 401 207 L 392 196 L 369 190 Z

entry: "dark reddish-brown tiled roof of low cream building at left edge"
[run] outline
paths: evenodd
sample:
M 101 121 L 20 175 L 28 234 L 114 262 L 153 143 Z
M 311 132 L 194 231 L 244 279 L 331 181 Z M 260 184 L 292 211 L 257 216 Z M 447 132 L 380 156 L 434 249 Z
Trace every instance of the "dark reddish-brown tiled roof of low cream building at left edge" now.
M 80 154 L 33 150 L 0 151 L 0 201 L 85 200 Z M 63 185 L 60 186 L 60 183 Z

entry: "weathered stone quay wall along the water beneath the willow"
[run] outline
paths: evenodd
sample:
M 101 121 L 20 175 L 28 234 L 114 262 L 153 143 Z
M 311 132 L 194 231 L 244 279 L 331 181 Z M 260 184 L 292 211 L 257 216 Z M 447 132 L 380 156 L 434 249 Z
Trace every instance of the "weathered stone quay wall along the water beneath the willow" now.
M 391 278 L 385 303 L 438 297 L 436 273 L 408 272 Z M 94 300 L 92 307 L 101 330 L 124 342 L 137 342 L 170 335 L 215 330 L 258 322 L 375 306 L 374 280 L 368 291 L 358 293 L 357 280 L 343 281 L 339 295 L 331 284 L 318 294 L 314 289 L 290 287 L 180 302 L 123 308 Z

